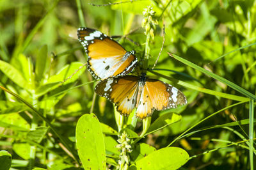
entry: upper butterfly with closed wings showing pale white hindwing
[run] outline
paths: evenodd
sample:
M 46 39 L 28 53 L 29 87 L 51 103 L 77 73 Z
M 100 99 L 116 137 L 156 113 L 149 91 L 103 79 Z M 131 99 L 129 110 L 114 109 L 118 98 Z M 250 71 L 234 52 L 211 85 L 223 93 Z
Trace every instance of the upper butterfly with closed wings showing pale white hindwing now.
M 107 79 L 132 72 L 138 59 L 109 36 L 88 27 L 77 29 L 78 40 L 88 56 L 88 70 L 95 79 Z

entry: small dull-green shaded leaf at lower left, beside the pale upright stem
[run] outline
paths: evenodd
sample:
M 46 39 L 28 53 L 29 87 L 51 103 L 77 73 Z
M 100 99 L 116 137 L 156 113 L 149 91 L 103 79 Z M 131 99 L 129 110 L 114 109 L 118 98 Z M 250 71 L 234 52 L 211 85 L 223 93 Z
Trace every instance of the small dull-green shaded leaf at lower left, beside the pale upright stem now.
M 44 138 L 48 128 L 47 127 L 37 127 L 36 130 L 31 130 L 27 134 L 27 138 L 35 143 L 40 143 Z

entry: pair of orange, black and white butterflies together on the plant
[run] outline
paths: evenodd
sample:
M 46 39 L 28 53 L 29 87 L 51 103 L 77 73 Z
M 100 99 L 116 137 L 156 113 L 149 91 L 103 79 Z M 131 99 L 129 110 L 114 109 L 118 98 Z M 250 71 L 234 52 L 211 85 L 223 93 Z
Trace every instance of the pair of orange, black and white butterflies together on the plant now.
M 95 92 L 116 105 L 120 114 L 129 116 L 136 107 L 136 116 L 144 119 L 154 110 L 175 108 L 187 103 L 177 88 L 156 79 L 127 75 L 137 65 L 135 51 L 127 52 L 109 36 L 88 27 L 77 29 L 78 40 L 88 55 L 88 70 L 101 79 Z

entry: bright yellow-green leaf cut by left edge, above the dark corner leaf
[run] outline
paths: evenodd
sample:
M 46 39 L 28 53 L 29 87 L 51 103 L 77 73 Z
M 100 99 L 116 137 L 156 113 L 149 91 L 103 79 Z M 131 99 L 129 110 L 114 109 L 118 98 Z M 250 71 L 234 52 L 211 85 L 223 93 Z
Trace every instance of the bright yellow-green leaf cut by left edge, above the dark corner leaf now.
M 24 118 L 22 118 L 17 112 L 0 115 L 0 126 L 22 131 L 27 131 L 30 128 L 29 123 L 24 120 Z

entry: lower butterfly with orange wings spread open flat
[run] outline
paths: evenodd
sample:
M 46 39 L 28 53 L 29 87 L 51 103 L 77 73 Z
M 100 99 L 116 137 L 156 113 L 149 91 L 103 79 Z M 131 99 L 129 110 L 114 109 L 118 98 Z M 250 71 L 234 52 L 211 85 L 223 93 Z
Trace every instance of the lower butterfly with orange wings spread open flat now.
M 145 73 L 140 77 L 109 77 L 97 84 L 95 92 L 113 102 L 122 115 L 129 116 L 137 107 L 136 116 L 140 119 L 151 116 L 155 109 L 162 111 L 187 104 L 179 89 L 157 79 L 148 79 Z

